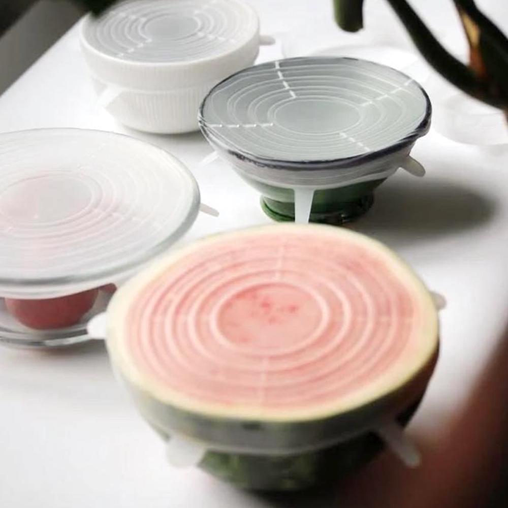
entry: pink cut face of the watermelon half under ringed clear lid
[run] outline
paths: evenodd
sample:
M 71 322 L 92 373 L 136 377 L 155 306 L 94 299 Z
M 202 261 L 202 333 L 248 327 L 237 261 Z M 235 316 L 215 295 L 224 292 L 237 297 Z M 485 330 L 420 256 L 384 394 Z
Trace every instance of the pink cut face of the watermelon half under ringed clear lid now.
M 407 382 L 436 345 L 421 282 L 351 232 L 275 226 L 201 243 L 139 276 L 113 303 L 124 374 L 212 412 L 366 403 Z

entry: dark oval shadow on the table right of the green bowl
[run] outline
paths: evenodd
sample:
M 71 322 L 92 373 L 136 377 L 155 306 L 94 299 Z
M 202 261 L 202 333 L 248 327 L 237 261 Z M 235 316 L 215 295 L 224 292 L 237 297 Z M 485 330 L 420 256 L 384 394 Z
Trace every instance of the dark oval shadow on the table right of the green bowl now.
M 495 199 L 450 181 L 388 180 L 352 228 L 397 245 L 477 228 L 492 219 Z

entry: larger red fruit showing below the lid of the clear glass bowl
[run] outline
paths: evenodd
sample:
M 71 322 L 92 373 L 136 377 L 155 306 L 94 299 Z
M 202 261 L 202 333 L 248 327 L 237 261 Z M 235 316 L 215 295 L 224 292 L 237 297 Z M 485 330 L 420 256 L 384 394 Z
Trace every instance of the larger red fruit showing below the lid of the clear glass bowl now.
M 92 307 L 99 290 L 45 300 L 6 298 L 7 310 L 23 325 L 36 330 L 75 325 Z

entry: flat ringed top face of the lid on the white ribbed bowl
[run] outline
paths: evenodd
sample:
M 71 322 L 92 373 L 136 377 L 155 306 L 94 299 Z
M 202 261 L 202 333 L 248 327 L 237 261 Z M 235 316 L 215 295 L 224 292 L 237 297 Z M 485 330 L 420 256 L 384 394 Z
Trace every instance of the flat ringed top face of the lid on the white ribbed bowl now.
M 238 0 L 134 0 L 87 23 L 87 42 L 128 61 L 188 62 L 226 54 L 257 33 L 252 9 Z

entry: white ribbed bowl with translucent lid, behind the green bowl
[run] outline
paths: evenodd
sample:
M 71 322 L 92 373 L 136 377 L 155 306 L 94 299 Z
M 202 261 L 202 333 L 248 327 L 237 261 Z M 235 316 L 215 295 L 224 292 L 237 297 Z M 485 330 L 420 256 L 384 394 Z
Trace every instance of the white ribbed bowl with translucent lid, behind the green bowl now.
M 86 16 L 80 38 L 100 104 L 153 133 L 197 130 L 206 93 L 260 45 L 258 16 L 241 0 L 122 2 Z

